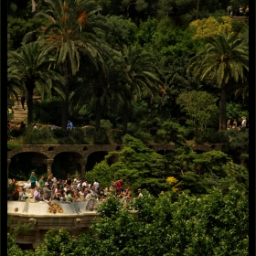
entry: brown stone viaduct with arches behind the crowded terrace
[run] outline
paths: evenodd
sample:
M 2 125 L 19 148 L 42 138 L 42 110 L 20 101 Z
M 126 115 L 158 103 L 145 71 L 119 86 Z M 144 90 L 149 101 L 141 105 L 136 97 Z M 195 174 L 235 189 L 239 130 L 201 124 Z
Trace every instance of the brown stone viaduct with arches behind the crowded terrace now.
M 144 144 L 145 146 L 153 149 L 155 152 L 160 153 L 170 152 L 175 150 L 175 144 L 168 144 L 165 148 L 165 144 Z M 80 165 L 80 176 L 85 176 L 85 167 L 88 161 L 88 157 L 94 153 L 105 153 L 111 151 L 121 151 L 123 144 L 24 144 L 18 150 L 7 151 L 7 173 L 9 172 L 9 165 L 12 158 L 15 155 L 34 153 L 37 155 L 37 161 L 40 164 L 47 165 L 48 173 L 51 172 L 51 165 L 53 164 L 56 156 L 63 153 L 73 155 L 75 163 Z M 221 150 L 221 144 L 207 144 L 198 145 L 193 144 L 192 149 L 197 152 L 207 152 L 211 150 Z

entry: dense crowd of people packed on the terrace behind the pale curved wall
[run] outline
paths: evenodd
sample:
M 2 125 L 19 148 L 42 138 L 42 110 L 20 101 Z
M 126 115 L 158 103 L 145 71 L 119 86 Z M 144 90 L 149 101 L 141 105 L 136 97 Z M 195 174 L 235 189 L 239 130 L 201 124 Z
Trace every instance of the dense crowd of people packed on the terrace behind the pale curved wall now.
M 30 189 L 31 193 L 27 194 L 27 189 Z M 12 184 L 8 186 L 7 199 L 26 201 L 27 198 L 33 198 L 34 202 L 48 204 L 52 200 L 71 203 L 90 201 L 90 199 L 101 201 L 112 192 L 119 198 L 133 198 L 130 187 L 124 188 L 122 178 L 112 181 L 110 187 L 103 188 L 97 179 L 90 184 L 86 179 L 80 179 L 78 175 L 73 180 L 70 176 L 66 180 L 61 180 L 51 173 L 47 178 L 40 176 L 37 181 L 37 176 L 32 172 L 29 180 L 22 186 L 16 182 L 16 179 L 13 179 Z M 141 189 L 138 190 L 138 197 L 143 197 Z

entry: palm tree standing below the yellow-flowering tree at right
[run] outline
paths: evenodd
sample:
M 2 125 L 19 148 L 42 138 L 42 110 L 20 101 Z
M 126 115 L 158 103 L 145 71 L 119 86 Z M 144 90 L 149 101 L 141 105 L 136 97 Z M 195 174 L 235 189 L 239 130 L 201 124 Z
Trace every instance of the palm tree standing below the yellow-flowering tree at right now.
M 242 82 L 249 72 L 249 48 L 237 34 L 221 34 L 209 38 L 205 49 L 190 59 L 187 73 L 195 80 L 216 77 L 220 87 L 219 130 L 226 129 L 226 92 L 233 83 Z

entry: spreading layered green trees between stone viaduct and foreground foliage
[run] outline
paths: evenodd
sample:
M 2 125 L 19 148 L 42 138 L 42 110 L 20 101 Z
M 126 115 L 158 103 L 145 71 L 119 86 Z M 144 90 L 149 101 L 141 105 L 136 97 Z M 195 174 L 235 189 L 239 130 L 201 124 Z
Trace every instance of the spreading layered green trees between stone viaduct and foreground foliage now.
M 168 190 L 208 193 L 213 187 L 221 187 L 220 180 L 227 178 L 231 171 L 230 157 L 221 151 L 197 154 L 183 145 L 175 152 L 159 155 L 128 134 L 123 137 L 123 144 L 122 151 L 106 155 L 104 161 L 87 172 L 86 178 L 91 182 L 97 178 L 103 187 L 110 187 L 112 180 L 123 178 L 124 187 L 130 187 L 134 196 L 141 187 L 156 197 Z M 237 149 L 240 148 L 247 148 L 246 139 L 244 144 L 240 142 Z M 115 163 L 110 161 L 113 156 L 118 157 Z M 175 178 L 174 183 L 168 182 L 170 176 Z

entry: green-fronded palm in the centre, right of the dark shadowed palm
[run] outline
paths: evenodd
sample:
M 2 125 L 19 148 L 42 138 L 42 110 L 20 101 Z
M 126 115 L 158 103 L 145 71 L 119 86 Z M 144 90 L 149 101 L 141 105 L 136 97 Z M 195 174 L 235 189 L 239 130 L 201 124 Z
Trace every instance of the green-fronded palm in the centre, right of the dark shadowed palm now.
M 129 79 L 126 101 L 123 104 L 123 133 L 127 132 L 129 105 L 147 91 L 153 97 L 153 91 L 158 91 L 163 85 L 159 79 L 160 72 L 155 66 L 155 59 L 151 54 L 144 52 L 137 46 L 123 46 L 121 58 L 124 63 L 124 72 Z

